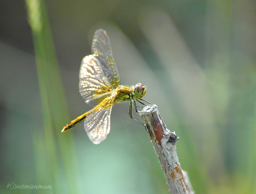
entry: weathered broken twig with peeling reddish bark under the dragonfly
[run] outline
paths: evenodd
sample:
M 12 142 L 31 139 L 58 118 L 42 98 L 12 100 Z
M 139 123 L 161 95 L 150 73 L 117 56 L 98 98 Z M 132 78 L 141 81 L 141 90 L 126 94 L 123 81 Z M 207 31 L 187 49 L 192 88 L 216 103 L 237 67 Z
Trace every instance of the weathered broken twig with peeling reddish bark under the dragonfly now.
M 175 132 L 170 132 L 162 120 L 156 105 L 147 106 L 140 113 L 146 123 L 159 163 L 171 194 L 194 194 L 186 171 L 180 167 L 176 153 Z

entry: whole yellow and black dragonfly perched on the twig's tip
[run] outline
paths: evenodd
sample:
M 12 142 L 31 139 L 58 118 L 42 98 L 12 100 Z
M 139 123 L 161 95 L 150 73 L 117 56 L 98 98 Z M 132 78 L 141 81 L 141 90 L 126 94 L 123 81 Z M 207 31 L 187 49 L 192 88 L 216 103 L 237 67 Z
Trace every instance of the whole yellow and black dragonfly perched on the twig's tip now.
M 117 102 L 130 101 L 129 116 L 136 122 L 145 124 L 132 116 L 132 106 L 137 110 L 136 101 L 142 105 L 152 105 L 142 99 L 147 88 L 141 83 L 132 87 L 120 85 L 119 73 L 112 55 L 108 34 L 103 29 L 95 31 L 92 40 L 92 55 L 85 56 L 79 72 L 79 91 L 84 101 L 94 107 L 68 123 L 61 132 L 84 121 L 84 129 L 93 144 L 104 141 L 110 131 L 110 114 Z

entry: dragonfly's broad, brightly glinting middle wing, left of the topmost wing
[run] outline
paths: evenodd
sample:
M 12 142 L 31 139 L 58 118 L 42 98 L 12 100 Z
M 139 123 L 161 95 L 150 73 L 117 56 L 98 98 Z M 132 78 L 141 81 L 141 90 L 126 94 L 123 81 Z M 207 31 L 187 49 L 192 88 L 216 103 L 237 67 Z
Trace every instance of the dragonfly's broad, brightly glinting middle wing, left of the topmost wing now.
M 83 58 L 79 80 L 80 94 L 84 101 L 92 107 L 112 94 L 113 87 L 108 82 L 98 57 L 88 55 Z

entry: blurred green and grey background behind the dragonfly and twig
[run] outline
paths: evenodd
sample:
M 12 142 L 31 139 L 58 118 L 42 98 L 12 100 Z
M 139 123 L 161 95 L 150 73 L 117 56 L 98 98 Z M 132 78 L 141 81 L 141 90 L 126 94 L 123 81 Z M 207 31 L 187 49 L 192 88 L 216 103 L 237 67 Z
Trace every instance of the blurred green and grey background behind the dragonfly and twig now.
M 42 31 L 28 23 L 36 7 Z M 100 145 L 83 124 L 60 133 L 91 109 L 78 72 L 99 28 L 121 84 L 146 85 L 144 99 L 180 137 L 177 153 L 195 192 L 256 193 L 255 1 L 46 0 L 31 10 L 28 17 L 20 0 L 0 4 L 0 193 L 168 193 L 128 103 L 113 107 Z

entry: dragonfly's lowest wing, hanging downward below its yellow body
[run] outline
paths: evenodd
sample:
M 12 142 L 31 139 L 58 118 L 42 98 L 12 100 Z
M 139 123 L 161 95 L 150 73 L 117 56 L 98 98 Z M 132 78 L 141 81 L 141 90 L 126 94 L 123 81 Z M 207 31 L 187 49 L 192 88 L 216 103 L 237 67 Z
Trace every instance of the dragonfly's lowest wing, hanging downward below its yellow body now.
M 105 99 L 93 108 L 84 121 L 84 129 L 94 144 L 99 144 L 107 138 L 110 131 L 110 114 L 116 95 Z

